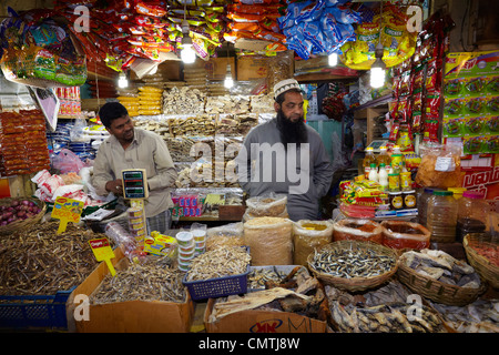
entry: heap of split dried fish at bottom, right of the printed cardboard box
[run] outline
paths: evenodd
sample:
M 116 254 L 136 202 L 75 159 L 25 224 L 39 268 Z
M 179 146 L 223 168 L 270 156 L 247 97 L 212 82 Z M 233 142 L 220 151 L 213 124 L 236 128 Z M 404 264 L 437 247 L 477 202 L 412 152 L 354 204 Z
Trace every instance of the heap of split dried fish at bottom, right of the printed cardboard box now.
M 332 317 L 337 331 L 344 333 L 445 333 L 437 314 L 422 306 L 420 314 L 406 303 L 383 304 L 371 307 L 343 306 L 329 302 Z

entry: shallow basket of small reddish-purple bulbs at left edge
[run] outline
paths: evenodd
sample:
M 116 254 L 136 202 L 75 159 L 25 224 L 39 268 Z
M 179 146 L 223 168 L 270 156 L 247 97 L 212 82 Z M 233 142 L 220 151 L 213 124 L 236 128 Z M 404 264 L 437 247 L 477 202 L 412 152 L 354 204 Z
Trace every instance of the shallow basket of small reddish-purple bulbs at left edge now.
M 37 224 L 47 212 L 47 204 L 34 197 L 0 199 L 0 235 Z

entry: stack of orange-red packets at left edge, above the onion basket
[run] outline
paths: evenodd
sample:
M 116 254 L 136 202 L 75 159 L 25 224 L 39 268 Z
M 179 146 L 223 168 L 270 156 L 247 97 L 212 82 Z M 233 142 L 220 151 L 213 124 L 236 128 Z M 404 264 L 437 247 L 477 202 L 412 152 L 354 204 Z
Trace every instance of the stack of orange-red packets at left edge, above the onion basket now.
M 50 169 L 45 119 L 40 110 L 0 113 L 0 146 L 2 176 Z

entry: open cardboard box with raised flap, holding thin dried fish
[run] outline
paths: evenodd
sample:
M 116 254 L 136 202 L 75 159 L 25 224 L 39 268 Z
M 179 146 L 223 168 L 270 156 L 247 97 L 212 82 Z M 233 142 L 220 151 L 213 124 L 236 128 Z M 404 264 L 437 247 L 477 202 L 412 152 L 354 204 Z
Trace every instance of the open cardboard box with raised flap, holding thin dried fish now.
M 121 248 L 114 251 L 112 260 L 116 272 L 126 267 L 128 258 Z M 98 290 L 108 275 L 105 263 L 85 278 L 70 295 L 68 310 L 68 328 L 78 333 L 187 333 L 192 325 L 194 304 L 189 296 L 185 303 L 162 301 L 130 301 L 89 306 L 89 321 L 75 321 L 74 310 L 80 303 L 74 303 L 77 295 L 90 295 Z

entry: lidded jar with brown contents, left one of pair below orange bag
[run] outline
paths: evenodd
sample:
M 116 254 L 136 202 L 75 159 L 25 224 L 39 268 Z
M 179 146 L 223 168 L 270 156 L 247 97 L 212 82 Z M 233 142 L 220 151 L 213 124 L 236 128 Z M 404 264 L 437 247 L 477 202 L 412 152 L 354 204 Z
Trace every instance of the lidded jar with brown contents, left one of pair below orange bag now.
M 434 191 L 428 201 L 427 229 L 431 243 L 452 243 L 456 241 L 458 203 L 451 191 Z

